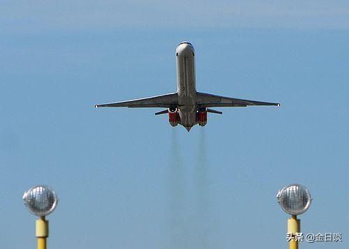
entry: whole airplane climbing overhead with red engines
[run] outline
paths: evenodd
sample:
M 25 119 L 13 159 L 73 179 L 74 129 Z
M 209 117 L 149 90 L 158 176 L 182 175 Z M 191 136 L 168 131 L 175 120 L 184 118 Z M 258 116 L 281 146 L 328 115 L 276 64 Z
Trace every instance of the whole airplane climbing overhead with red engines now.
M 177 92 L 150 98 L 100 104 L 95 107 L 162 107 L 166 108 L 155 115 L 168 114 L 171 126 L 184 126 L 188 132 L 193 126 L 205 126 L 207 113 L 223 114 L 211 107 L 246 107 L 249 105 L 276 105 L 239 98 L 228 98 L 196 91 L 195 86 L 195 50 L 191 43 L 181 42 L 176 48 Z

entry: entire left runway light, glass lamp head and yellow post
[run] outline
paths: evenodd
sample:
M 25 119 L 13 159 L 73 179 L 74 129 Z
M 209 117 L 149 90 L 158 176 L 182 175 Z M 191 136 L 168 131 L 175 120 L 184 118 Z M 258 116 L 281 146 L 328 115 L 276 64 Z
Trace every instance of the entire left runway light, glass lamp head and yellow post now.
M 38 238 L 38 249 L 46 249 L 48 237 L 48 220 L 45 216 L 52 213 L 57 206 L 58 198 L 52 188 L 45 185 L 29 188 L 24 195 L 25 206 L 30 213 L 39 216 L 36 220 L 35 235 Z

